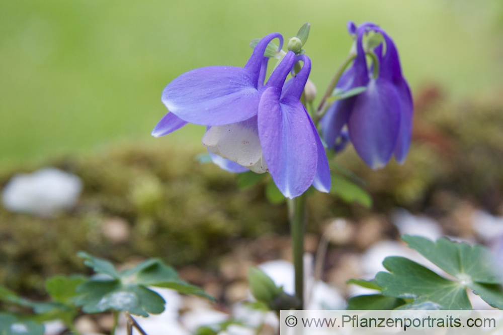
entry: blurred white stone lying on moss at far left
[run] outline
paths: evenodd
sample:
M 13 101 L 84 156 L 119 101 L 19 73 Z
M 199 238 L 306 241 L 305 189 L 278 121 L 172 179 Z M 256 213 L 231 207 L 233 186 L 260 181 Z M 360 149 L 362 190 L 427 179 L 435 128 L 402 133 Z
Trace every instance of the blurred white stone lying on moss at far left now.
M 2 201 L 11 211 L 50 217 L 73 207 L 81 190 L 77 176 L 44 168 L 14 176 L 2 190 Z

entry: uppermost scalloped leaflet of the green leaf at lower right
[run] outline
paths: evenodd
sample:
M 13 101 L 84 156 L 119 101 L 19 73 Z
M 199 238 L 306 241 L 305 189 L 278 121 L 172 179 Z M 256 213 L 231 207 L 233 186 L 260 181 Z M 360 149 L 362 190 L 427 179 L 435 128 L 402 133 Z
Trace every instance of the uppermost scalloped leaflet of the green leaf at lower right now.
M 433 242 L 421 236 L 402 236 L 410 248 L 417 250 L 433 264 L 464 282 L 501 284 L 500 276 L 494 271 L 496 263 L 483 246 L 470 246 L 440 238 Z

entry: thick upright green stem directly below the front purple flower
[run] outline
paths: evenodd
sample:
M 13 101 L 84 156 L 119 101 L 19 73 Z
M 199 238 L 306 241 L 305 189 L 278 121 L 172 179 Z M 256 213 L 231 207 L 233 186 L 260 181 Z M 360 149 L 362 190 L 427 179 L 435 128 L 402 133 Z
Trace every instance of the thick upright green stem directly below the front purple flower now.
M 304 231 L 306 221 L 306 195 L 288 199 L 288 217 L 292 234 L 293 265 L 295 268 L 295 297 L 297 308 L 304 306 Z

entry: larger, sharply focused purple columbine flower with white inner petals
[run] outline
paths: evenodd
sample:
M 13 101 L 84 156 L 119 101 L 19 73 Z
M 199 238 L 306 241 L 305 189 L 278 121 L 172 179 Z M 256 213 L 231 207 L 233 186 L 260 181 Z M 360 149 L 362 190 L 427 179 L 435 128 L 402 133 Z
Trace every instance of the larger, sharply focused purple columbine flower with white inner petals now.
M 187 123 L 207 126 L 202 142 L 215 164 L 230 172 L 271 173 L 289 198 L 310 185 L 328 192 L 328 161 L 316 128 L 300 102 L 311 62 L 289 51 L 264 84 L 267 45 L 283 37 L 264 37 L 243 68 L 210 66 L 182 74 L 162 92 L 169 109 L 155 126 L 155 137 Z M 293 66 L 303 67 L 286 84 Z

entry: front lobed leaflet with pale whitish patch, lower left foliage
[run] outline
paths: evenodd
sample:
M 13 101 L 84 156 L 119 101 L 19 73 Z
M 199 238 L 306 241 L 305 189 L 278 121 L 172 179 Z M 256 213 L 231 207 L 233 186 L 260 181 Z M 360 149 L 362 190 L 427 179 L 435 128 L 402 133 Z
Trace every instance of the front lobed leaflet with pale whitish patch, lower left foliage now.
M 119 280 L 89 280 L 78 286 L 77 291 L 82 295 L 75 304 L 86 313 L 117 310 L 148 316 L 164 310 L 165 301 L 160 295 L 144 286 L 122 284 Z

